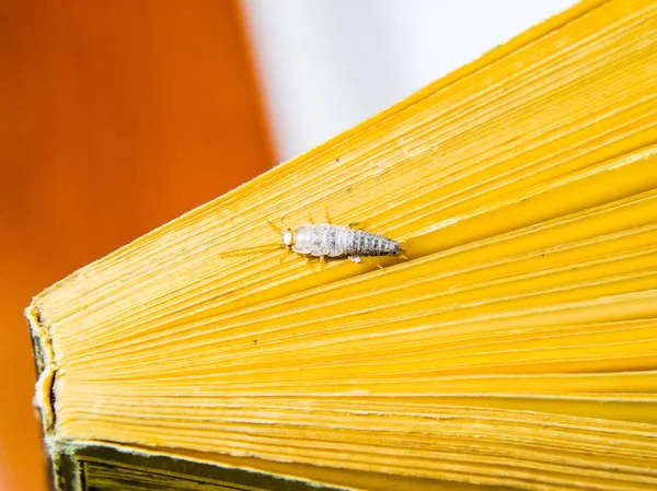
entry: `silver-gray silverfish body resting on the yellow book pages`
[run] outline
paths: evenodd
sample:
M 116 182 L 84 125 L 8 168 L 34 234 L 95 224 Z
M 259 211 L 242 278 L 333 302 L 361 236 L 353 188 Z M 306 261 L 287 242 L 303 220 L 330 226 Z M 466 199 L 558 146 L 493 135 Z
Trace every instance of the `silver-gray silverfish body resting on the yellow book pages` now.
M 346 256 L 354 262 L 360 262 L 361 256 L 397 256 L 402 252 L 397 242 L 383 235 L 328 223 L 284 230 L 283 243 L 303 256 Z

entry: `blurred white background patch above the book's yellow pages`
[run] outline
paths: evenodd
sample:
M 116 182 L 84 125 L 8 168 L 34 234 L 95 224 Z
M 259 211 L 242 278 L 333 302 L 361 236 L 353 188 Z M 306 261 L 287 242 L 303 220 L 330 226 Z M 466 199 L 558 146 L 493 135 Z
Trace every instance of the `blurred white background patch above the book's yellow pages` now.
M 242 0 L 279 161 L 575 0 Z

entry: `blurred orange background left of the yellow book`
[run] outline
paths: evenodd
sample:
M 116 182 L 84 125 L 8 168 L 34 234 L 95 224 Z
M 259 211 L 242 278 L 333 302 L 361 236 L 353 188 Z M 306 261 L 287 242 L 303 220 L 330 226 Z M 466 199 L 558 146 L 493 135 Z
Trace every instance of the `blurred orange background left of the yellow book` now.
M 45 490 L 32 295 L 266 171 L 231 0 L 0 4 L 0 489 Z

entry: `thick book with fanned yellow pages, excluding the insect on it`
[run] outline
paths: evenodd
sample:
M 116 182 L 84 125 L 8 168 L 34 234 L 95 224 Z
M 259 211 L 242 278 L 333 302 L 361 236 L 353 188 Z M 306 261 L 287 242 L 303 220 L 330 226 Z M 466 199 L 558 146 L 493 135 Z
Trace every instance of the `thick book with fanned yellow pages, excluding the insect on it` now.
M 577 3 L 38 294 L 56 487 L 657 489 L 656 52 Z

